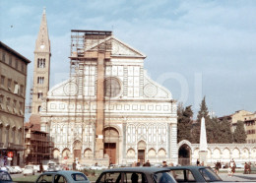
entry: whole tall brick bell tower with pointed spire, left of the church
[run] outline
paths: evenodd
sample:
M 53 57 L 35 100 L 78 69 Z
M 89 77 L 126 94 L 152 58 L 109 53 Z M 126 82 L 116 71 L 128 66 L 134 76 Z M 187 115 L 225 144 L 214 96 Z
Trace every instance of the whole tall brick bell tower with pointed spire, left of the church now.
M 51 53 L 45 8 L 33 53 L 32 115 L 36 115 L 41 110 L 42 99 L 46 97 L 47 91 L 49 91 Z

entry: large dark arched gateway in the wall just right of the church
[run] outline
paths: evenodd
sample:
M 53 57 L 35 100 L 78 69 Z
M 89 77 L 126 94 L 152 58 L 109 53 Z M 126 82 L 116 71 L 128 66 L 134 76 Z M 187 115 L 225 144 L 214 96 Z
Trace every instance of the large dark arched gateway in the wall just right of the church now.
M 191 164 L 191 149 L 188 145 L 182 145 L 178 150 L 178 163 L 181 165 Z

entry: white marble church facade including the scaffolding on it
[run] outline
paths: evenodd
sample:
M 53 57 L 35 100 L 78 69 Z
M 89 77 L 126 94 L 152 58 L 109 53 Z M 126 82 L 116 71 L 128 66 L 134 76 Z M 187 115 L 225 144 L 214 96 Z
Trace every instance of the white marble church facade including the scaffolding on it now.
M 146 56 L 111 31 L 72 30 L 70 78 L 47 92 L 41 131 L 61 163 L 177 163 L 177 105 Z

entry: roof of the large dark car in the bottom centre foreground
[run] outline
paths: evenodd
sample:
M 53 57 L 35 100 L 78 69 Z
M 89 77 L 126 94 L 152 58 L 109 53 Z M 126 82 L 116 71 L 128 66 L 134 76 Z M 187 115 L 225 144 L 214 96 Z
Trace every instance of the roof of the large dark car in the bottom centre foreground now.
M 112 168 L 103 170 L 104 172 L 141 172 L 141 173 L 155 173 L 160 171 L 168 171 L 168 168 L 160 168 L 160 167 L 120 167 L 120 168 Z

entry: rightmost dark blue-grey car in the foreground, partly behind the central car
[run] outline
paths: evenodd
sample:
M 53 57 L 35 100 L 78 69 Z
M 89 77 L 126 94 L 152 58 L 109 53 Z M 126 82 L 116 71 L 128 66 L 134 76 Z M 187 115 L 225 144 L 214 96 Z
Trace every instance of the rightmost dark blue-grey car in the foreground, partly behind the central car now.
M 168 166 L 177 182 L 222 182 L 209 166 Z

